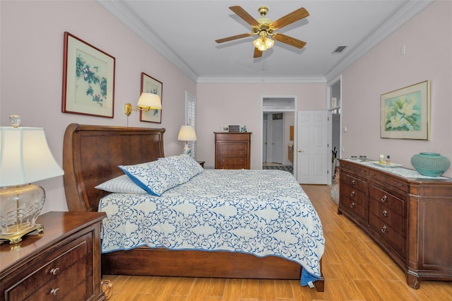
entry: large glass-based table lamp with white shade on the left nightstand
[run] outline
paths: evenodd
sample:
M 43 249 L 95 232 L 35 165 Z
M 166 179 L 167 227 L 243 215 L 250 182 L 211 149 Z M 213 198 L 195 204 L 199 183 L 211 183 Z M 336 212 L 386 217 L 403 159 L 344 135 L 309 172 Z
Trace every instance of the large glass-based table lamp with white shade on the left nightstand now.
M 32 182 L 64 175 L 47 145 L 44 129 L 19 127 L 20 117 L 9 117 L 13 127 L 0 126 L 0 238 L 16 244 L 37 230 L 45 191 Z

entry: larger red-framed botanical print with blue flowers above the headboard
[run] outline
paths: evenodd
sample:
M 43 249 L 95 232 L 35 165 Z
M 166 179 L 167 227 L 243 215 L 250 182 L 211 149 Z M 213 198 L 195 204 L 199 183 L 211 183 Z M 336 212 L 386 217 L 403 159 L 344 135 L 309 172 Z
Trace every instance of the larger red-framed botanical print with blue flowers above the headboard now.
M 61 112 L 113 118 L 115 59 L 64 33 Z

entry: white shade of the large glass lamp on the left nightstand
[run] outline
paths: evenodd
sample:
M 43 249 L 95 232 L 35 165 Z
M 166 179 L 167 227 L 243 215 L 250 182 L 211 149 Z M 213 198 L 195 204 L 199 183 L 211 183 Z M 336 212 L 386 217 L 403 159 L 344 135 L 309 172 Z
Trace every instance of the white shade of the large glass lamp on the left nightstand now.
M 0 187 L 64 175 L 47 145 L 44 129 L 0 127 Z

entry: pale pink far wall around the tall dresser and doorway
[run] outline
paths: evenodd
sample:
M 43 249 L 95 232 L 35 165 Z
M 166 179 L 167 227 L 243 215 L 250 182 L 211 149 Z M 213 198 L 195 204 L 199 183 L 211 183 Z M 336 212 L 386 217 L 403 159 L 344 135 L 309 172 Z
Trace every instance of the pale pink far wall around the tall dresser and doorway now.
M 297 110 L 325 110 L 325 83 L 202 83 L 198 84 L 196 157 L 215 165 L 214 131 L 222 125 L 245 124 L 251 131 L 251 169 L 261 169 L 262 97 L 295 96 Z

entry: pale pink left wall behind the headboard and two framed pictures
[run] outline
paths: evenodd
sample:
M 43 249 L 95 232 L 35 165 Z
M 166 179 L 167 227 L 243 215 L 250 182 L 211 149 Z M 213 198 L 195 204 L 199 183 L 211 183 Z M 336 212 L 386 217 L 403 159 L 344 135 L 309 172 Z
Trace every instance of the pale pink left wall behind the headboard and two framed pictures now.
M 196 95 L 196 83 L 105 8 L 95 1 L 0 1 L 0 8 L 1 126 L 19 114 L 23 126 L 44 127 L 61 165 L 64 130 L 71 122 L 127 126 L 124 104 L 138 101 L 145 72 L 163 83 L 162 124 L 139 122 L 138 112 L 132 112 L 129 126 L 165 127 L 165 155 L 182 152 L 177 134 L 184 124 L 184 93 Z M 113 119 L 61 113 L 65 31 L 116 58 Z M 39 184 L 47 194 L 43 213 L 67 210 L 63 177 Z

